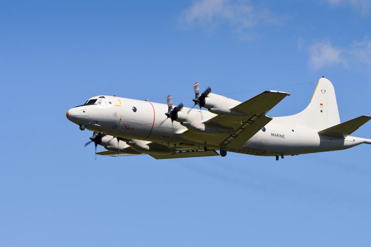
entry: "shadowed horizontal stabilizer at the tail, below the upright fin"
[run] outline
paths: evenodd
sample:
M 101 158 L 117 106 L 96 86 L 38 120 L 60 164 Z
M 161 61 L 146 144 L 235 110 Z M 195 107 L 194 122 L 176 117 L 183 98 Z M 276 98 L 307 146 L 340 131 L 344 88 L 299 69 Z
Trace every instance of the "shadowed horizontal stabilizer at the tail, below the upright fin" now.
M 359 116 L 358 118 L 354 118 L 344 123 L 339 123 L 338 125 L 319 131 L 318 133 L 334 138 L 345 138 L 356 131 L 359 127 L 364 125 L 370 119 L 371 116 Z

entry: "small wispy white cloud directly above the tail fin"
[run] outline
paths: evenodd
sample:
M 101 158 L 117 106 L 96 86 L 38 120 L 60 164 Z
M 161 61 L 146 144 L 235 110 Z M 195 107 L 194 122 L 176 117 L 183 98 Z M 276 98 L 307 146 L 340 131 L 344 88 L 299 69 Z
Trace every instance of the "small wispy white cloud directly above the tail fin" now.
M 322 67 L 342 64 L 347 62 L 342 56 L 343 51 L 331 45 L 329 41 L 321 41 L 309 46 L 309 65 L 315 70 Z

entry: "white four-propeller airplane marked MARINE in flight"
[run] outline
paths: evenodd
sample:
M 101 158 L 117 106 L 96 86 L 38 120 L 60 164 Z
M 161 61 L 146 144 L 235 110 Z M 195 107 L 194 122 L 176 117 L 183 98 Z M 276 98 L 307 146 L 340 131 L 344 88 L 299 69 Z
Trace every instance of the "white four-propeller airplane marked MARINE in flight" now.
M 289 93 L 267 90 L 239 102 L 211 93 L 210 88 L 200 93 L 197 82 L 193 87 L 192 108 L 183 103 L 173 106 L 170 95 L 167 105 L 101 95 L 69 109 L 66 116 L 80 130 L 93 131 L 85 146 L 94 142 L 96 154 L 114 157 L 224 157 L 227 152 L 236 152 L 279 160 L 286 155 L 371 144 L 371 139 L 350 136 L 371 116 L 341 123 L 334 86 L 323 76 L 302 112 L 273 118 L 267 112 Z M 97 145 L 106 151 L 96 152 Z

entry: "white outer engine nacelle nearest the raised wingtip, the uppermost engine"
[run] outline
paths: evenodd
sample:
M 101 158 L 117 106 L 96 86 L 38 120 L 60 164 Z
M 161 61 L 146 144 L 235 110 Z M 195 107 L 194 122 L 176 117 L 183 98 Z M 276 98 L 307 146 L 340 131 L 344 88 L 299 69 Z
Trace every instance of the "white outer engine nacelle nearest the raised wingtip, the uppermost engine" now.
M 205 98 L 204 108 L 207 108 L 210 112 L 218 115 L 230 115 L 230 116 L 246 116 L 248 114 L 238 111 L 231 111 L 231 109 L 239 105 L 241 102 L 234 99 L 230 99 L 215 93 L 209 93 Z

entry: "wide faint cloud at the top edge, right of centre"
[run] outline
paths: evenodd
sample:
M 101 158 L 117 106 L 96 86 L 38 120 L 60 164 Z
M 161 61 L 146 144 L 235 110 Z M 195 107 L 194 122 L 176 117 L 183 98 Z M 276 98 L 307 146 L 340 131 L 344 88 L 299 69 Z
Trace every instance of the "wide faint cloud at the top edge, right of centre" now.
M 215 27 L 228 24 L 234 31 L 243 32 L 261 23 L 278 23 L 268 9 L 257 9 L 246 0 L 200 0 L 185 9 L 180 19 L 189 26 Z

